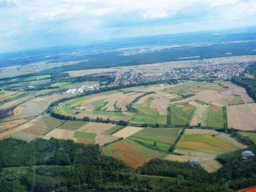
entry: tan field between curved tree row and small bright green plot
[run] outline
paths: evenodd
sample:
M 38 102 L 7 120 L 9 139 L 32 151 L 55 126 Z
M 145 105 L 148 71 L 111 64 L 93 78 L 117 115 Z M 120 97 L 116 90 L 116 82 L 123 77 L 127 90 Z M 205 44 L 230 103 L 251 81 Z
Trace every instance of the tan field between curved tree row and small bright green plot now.
M 102 124 L 102 123 L 89 122 L 88 124 L 79 128 L 77 131 L 92 132 L 92 133 L 99 134 L 99 133 L 108 131 L 114 126 L 115 126 L 114 124 Z

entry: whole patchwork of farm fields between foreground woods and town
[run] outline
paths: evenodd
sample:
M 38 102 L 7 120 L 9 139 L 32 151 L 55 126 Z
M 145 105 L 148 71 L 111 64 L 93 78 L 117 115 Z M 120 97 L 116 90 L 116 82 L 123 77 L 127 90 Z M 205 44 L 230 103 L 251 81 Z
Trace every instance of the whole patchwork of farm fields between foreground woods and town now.
M 72 88 L 72 84 L 59 85 Z M 19 94 L 6 92 L 1 98 Z M 197 159 L 207 172 L 221 168 L 218 155 L 247 147 L 219 129 L 241 130 L 243 136 L 256 141 L 254 132 L 244 132 L 256 129 L 256 104 L 243 88 L 230 82 L 124 88 L 61 102 L 53 111 L 68 119 L 47 115 L 47 106 L 63 97 L 67 95 L 31 96 L 0 123 L 0 138 L 57 138 L 98 144 L 102 154 L 132 168 L 154 158 L 179 162 Z M 39 112 L 34 114 L 35 108 Z M 126 123 L 118 123 L 122 121 Z

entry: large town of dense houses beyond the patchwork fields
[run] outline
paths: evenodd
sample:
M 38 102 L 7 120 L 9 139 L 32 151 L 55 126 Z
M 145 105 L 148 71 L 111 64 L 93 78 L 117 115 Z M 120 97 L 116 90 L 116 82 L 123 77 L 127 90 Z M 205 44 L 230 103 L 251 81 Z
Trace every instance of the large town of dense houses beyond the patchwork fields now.
M 136 69 L 129 72 L 116 73 L 114 83 L 109 86 L 122 86 L 127 84 L 138 84 L 148 82 L 159 82 L 168 80 L 193 80 L 193 81 L 214 81 L 230 80 L 233 76 L 238 76 L 244 72 L 249 63 L 230 63 L 199 65 L 195 67 L 180 67 L 172 70 L 166 70 L 161 76 L 144 76 Z

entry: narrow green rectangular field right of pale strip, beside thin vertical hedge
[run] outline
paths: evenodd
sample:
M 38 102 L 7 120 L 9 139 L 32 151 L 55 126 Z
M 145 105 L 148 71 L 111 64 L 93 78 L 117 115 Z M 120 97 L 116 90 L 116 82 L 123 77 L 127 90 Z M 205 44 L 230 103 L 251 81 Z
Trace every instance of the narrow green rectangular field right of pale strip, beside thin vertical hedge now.
M 223 120 L 223 109 L 221 107 L 210 107 L 208 118 L 207 118 L 207 126 L 209 127 L 224 127 Z

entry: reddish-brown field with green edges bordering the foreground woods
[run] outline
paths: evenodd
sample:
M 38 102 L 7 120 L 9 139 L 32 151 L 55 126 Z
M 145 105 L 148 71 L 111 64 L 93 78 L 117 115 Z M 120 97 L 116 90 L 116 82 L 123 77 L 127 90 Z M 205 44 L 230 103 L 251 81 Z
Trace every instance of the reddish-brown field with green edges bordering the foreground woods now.
M 151 150 L 129 139 L 116 141 L 102 147 L 102 152 L 106 156 L 112 156 L 124 161 L 129 166 L 132 166 L 132 168 L 138 168 L 143 163 L 150 161 L 150 159 L 166 156 L 164 152 Z

